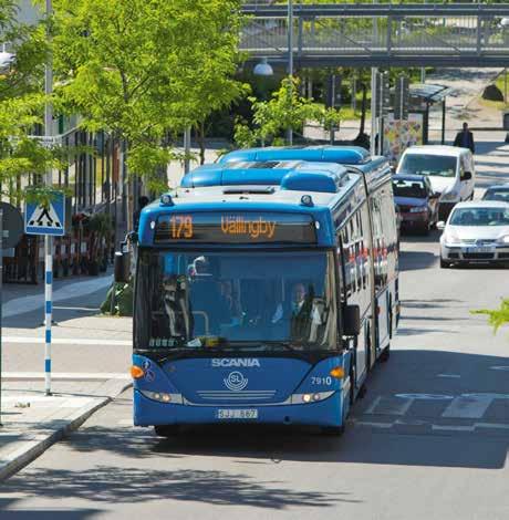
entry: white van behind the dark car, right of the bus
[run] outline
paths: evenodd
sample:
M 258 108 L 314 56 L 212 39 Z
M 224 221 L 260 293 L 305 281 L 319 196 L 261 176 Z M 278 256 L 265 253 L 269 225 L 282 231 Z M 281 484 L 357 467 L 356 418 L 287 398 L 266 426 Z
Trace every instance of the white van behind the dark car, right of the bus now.
M 474 198 L 476 171 L 474 156 L 468 148 L 411 146 L 404 152 L 397 173 L 429 176 L 433 190 L 440 194 L 440 220 L 447 220 L 457 202 Z

